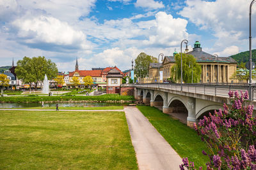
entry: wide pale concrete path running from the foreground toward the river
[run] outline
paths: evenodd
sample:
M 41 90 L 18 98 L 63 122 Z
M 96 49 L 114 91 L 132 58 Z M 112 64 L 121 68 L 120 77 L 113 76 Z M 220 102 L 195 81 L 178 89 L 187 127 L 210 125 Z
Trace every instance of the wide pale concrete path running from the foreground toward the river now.
M 124 111 L 139 169 L 178 170 L 182 159 L 140 110 L 125 107 Z

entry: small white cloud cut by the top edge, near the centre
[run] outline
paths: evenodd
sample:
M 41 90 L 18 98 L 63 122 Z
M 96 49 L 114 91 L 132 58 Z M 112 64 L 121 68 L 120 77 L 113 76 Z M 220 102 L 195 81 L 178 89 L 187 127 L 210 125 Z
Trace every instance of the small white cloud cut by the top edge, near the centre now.
M 136 7 L 141 7 L 141 8 L 148 8 L 148 9 L 159 9 L 159 8 L 164 8 L 164 5 L 161 1 L 154 1 L 154 0 L 137 0 L 136 3 L 134 4 Z

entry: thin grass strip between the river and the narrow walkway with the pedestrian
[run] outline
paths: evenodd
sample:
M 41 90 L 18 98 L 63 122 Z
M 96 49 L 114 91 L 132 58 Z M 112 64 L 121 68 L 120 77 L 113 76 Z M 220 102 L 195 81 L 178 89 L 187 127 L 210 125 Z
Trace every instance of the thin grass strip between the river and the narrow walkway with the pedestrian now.
M 31 108 L 6 108 L 24 110 L 55 110 L 56 107 L 31 107 Z M 103 107 L 59 107 L 59 110 L 123 110 L 124 106 L 103 106 Z M 0 109 L 1 110 L 1 109 Z

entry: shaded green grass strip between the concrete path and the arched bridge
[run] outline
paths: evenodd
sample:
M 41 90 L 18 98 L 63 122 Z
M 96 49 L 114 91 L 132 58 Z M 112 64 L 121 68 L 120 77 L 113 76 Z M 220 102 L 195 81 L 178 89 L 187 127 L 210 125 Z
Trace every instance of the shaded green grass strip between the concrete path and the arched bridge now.
M 150 106 L 137 106 L 137 108 L 179 153 L 180 157 L 188 157 L 189 161 L 195 162 L 196 167 L 205 167 L 208 158 L 202 154 L 202 150 L 207 150 L 207 147 L 194 129 L 182 124 L 179 120 L 174 120 L 157 108 Z

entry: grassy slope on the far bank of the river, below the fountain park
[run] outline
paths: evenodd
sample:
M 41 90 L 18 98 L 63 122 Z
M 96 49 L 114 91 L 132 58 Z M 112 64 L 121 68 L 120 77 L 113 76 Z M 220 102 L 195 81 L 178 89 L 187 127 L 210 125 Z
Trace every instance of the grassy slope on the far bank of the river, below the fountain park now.
M 39 101 L 133 101 L 133 96 L 120 96 L 116 94 L 104 94 L 102 96 L 34 96 L 34 97 L 0 97 L 0 102 L 22 103 Z

